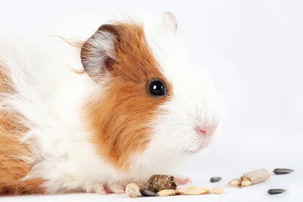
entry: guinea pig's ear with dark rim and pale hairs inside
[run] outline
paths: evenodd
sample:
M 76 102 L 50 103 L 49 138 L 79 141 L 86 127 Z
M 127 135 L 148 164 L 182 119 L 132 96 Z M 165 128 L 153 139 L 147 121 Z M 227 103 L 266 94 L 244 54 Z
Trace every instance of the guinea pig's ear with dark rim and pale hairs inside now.
M 117 38 L 119 38 L 118 27 L 104 24 L 81 47 L 80 57 L 84 70 L 96 83 L 112 70 L 116 61 Z

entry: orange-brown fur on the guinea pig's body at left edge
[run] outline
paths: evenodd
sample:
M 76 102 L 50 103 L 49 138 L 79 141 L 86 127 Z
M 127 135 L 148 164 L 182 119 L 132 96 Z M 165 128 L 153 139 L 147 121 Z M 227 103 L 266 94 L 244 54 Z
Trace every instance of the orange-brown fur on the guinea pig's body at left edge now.
M 0 61 L 0 92 L 14 93 L 11 83 Z M 4 98 L 0 96 L 0 100 Z M 20 181 L 33 166 L 19 158 L 30 155 L 28 144 L 20 142 L 22 134 L 29 130 L 21 124 L 22 119 L 24 117 L 17 111 L 0 109 L 0 195 L 44 192 L 42 179 Z

